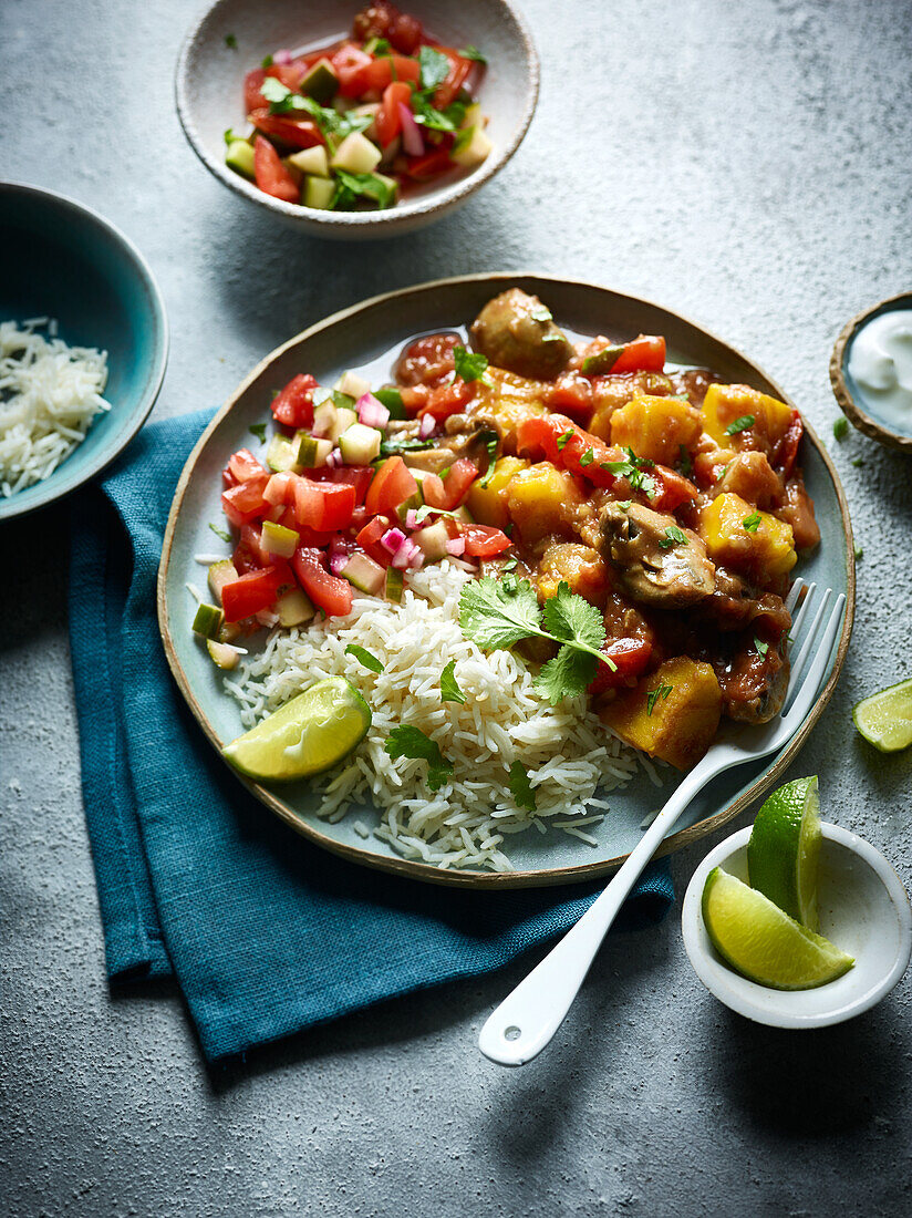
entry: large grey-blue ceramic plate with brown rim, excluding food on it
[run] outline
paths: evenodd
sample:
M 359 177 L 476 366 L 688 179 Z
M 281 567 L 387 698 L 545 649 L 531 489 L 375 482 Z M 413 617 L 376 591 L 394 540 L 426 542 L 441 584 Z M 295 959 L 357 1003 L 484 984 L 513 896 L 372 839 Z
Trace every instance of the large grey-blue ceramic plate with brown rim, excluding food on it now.
M 415 333 L 466 324 L 487 300 L 513 284 L 537 292 L 555 318 L 571 330 L 602 331 L 619 339 L 640 333 L 664 334 L 670 361 L 710 367 L 724 381 L 748 382 L 788 401 L 755 364 L 677 314 L 592 284 L 544 275 L 472 275 L 424 284 L 374 297 L 312 326 L 268 356 L 212 420 L 188 459 L 168 520 L 158 576 L 162 638 L 178 685 L 213 745 L 219 747 L 239 736 L 242 727 L 236 704 L 222 692 L 220 674 L 191 632 L 195 603 L 185 585 L 188 581 L 202 583 L 203 569 L 194 555 L 213 552 L 214 538 L 208 524 L 223 519 L 220 475 L 229 456 L 251 442 L 250 425 L 269 418 L 273 390 L 296 373 L 310 371 L 318 380 L 329 382 L 346 368 L 369 368 Z M 667 839 L 662 853 L 679 849 L 724 825 L 772 786 L 801 748 L 835 687 L 855 607 L 851 526 L 839 479 L 810 429 L 802 464 L 817 505 L 822 543 L 799 570 L 805 579 L 845 592 L 847 600 L 843 631 L 830 657 L 827 686 L 791 744 L 772 760 L 731 770 L 716 780 L 693 803 L 686 827 Z M 510 855 L 516 871 L 511 875 L 438 871 L 426 864 L 403 860 L 377 839 L 362 840 L 352 828 L 358 818 L 375 825 L 376 814 L 371 809 L 357 815 L 352 811 L 338 825 L 328 825 L 314 814 L 303 784 L 285 790 L 279 787 L 269 790 L 252 782 L 247 786 L 295 829 L 357 862 L 433 883 L 509 888 L 592 879 L 616 866 L 638 840 L 644 816 L 664 803 L 673 782 L 675 777 L 670 776 L 660 790 L 643 776 L 627 789 L 612 792 L 611 811 L 595 829 L 599 839 L 595 848 L 559 833 L 528 833 L 514 838 Z

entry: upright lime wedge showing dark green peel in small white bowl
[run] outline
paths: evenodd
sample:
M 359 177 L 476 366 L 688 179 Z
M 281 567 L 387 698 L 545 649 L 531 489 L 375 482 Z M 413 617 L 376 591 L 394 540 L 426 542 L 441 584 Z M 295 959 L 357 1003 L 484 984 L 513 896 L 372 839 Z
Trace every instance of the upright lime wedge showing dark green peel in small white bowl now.
M 795 778 L 766 800 L 748 844 L 751 888 L 789 917 L 817 929 L 821 809 L 817 778 Z

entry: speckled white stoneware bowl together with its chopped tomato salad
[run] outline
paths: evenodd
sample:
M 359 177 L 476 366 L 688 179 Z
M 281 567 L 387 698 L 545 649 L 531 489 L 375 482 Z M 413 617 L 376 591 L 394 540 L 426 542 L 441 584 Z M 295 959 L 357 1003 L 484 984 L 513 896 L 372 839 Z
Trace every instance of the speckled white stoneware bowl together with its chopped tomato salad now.
M 505 0 L 219 0 L 175 84 L 226 186 L 312 234 L 376 238 L 461 206 L 509 161 L 538 57 Z

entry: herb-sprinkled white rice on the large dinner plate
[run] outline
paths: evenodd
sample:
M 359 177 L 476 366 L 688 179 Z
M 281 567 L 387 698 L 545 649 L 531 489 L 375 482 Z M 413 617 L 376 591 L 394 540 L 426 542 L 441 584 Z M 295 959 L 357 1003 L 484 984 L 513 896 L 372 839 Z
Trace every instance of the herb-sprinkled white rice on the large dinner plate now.
M 535 667 L 508 650 L 481 652 L 459 628 L 459 593 L 471 579 L 465 564 L 444 560 L 412 572 L 401 605 L 357 597 L 347 618 L 309 628 L 273 631 L 264 649 L 225 677 L 252 727 L 325 676 L 348 678 L 364 695 L 373 725 L 341 769 L 317 780 L 319 815 L 341 820 L 352 804 L 373 804 L 377 837 L 407 859 L 438 867 L 511 871 L 505 842 L 532 825 L 552 825 L 591 845 L 580 826 L 595 827 L 608 804 L 597 789 L 630 781 L 639 754 L 604 727 L 583 698 L 552 706 L 533 689 Z M 368 671 L 349 643 L 371 652 L 382 674 Z M 455 660 L 464 704 L 442 702 L 440 677 Z M 384 750 L 393 727 L 410 723 L 436 741 L 453 762 L 432 792 L 424 761 Z M 517 808 L 509 772 L 521 761 L 536 793 L 536 811 Z M 354 825 L 360 834 L 363 822 Z

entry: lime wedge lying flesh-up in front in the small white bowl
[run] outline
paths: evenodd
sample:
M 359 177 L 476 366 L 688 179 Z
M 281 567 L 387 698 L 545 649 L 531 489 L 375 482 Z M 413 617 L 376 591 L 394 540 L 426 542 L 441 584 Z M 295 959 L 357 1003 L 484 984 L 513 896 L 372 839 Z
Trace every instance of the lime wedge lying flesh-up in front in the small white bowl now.
M 703 921 L 720 956 L 760 985 L 813 989 L 841 977 L 855 963 L 829 939 L 809 931 L 721 867 L 706 877 Z

